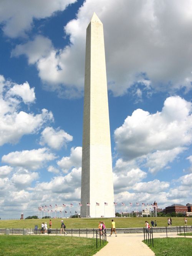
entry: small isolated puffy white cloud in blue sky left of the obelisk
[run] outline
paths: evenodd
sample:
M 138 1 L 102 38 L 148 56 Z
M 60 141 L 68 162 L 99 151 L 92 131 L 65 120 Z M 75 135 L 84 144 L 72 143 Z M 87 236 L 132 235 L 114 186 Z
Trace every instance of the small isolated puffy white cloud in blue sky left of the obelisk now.
M 46 127 L 41 132 L 40 145 L 47 144 L 55 150 L 59 150 L 62 146 L 66 146 L 66 143 L 73 140 L 73 136 L 66 133 L 64 130 L 58 128 L 56 130 L 53 127 Z

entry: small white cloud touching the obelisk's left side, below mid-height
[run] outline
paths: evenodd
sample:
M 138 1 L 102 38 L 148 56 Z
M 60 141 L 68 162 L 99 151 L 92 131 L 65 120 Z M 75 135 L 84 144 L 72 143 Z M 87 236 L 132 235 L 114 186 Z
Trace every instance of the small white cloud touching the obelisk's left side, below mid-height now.
M 82 147 L 71 148 L 70 156 L 65 156 L 57 161 L 57 165 L 64 173 L 67 173 L 71 167 L 81 167 Z

